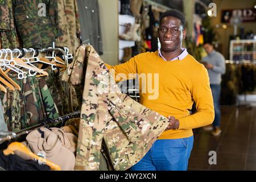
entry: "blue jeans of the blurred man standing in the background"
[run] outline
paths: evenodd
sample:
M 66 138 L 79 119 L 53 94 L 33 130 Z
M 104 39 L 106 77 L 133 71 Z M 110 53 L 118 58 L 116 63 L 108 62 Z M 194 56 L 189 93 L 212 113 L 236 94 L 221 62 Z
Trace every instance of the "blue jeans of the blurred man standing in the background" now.
M 220 127 L 221 121 L 221 111 L 220 111 L 220 92 L 221 92 L 221 85 L 218 84 L 211 84 L 210 89 L 212 89 L 212 97 L 213 97 L 213 104 L 214 104 L 214 121 L 213 127 Z

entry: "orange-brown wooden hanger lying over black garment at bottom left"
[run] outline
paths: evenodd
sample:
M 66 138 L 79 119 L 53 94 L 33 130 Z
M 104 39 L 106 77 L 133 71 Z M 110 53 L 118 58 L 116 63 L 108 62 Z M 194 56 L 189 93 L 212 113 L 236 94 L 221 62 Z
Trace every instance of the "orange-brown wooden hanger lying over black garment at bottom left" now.
M 9 144 L 9 146 L 5 150 L 3 150 L 3 154 L 5 154 L 5 155 L 14 154 L 15 150 L 18 150 L 18 151 L 22 152 L 23 154 L 30 156 L 31 158 L 35 158 L 37 160 L 40 160 L 41 162 L 45 162 L 46 165 L 51 167 L 51 169 L 53 169 L 53 170 L 56 170 L 56 171 L 61 170 L 60 166 L 50 162 L 49 160 L 41 158 L 38 155 L 35 155 L 33 152 L 28 150 L 28 148 L 26 146 L 24 146 L 24 144 L 22 144 L 20 142 L 12 142 L 11 144 Z

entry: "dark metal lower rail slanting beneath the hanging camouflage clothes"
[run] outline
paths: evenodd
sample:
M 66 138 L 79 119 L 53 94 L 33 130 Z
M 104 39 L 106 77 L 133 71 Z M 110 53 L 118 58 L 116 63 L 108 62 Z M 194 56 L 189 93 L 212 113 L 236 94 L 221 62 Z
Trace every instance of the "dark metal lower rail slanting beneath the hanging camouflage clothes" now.
M 80 111 L 75 111 L 73 113 L 63 115 L 62 117 L 59 117 L 57 119 L 53 119 L 52 121 L 48 121 L 46 124 L 39 124 L 39 125 L 29 127 L 29 128 L 24 129 L 22 131 L 19 131 L 18 133 L 0 132 L 0 135 L 4 136 L 4 137 L 0 137 L 0 144 L 7 141 L 7 140 L 16 139 L 16 138 L 20 137 L 21 135 L 28 134 L 33 130 L 39 129 L 40 127 L 48 127 L 48 126 L 51 126 L 53 124 L 59 124 L 59 123 L 62 123 L 62 125 L 63 125 L 63 122 L 66 122 L 69 119 L 77 118 L 77 117 L 80 117 Z

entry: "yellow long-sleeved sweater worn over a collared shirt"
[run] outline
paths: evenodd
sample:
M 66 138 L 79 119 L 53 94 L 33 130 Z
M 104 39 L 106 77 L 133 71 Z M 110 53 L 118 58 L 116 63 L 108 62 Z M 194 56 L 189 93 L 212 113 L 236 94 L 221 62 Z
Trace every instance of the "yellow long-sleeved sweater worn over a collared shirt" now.
M 192 129 L 213 122 L 214 107 L 208 72 L 191 55 L 182 60 L 164 61 L 158 51 L 146 52 L 126 63 L 106 66 L 114 71 L 115 76 L 121 76 L 115 77 L 115 81 L 122 80 L 123 75 L 138 73 L 143 78 L 139 83 L 140 103 L 165 117 L 171 115 L 179 119 L 179 129 L 164 131 L 158 139 L 191 137 Z M 132 78 L 131 75 L 129 78 Z M 193 101 L 196 102 L 197 112 L 190 115 Z

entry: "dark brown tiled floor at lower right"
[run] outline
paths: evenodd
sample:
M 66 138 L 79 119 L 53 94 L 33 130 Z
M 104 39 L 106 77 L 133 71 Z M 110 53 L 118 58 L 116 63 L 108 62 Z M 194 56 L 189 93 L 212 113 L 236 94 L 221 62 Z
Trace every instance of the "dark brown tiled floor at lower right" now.
M 221 107 L 219 137 L 203 128 L 194 130 L 188 170 L 256 170 L 256 107 Z M 216 151 L 217 164 L 209 164 Z

